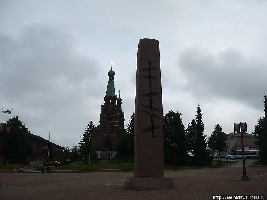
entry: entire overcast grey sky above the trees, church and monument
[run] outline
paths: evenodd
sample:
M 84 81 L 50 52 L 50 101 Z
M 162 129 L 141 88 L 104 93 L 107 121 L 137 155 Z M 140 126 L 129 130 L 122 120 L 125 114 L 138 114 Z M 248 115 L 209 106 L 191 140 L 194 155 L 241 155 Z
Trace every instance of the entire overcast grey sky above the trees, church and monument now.
M 267 93 L 267 1 L 0 1 L 0 122 L 18 116 L 61 146 L 99 124 L 110 62 L 125 123 L 134 112 L 142 38 L 160 44 L 163 112 L 185 128 L 201 107 L 204 133 L 247 122 Z M 1 108 L 0 108 L 1 109 Z M 2 111 L 2 109 L 1 109 Z

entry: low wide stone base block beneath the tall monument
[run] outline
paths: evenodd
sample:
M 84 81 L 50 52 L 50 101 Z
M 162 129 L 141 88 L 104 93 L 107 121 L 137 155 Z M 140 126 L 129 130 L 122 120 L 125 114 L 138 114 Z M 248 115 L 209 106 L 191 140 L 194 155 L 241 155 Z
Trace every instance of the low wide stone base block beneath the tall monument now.
M 169 190 L 175 189 L 172 178 L 164 177 L 126 177 L 127 190 Z

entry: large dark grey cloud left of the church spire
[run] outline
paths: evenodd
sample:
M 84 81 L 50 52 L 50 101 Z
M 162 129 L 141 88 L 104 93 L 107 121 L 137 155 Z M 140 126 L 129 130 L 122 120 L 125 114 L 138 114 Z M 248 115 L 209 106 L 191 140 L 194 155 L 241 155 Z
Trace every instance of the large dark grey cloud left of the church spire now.
M 47 135 L 44 127 L 53 126 L 56 135 L 72 132 L 78 142 L 87 115 L 96 108 L 84 106 L 99 105 L 95 97 L 104 94 L 97 62 L 77 54 L 76 42 L 58 28 L 40 24 L 24 27 L 17 39 L 0 36 L 1 102 L 11 104 L 12 114 L 38 135 Z M 103 91 L 93 89 L 101 87 Z M 67 143 L 64 134 L 57 137 L 55 142 Z

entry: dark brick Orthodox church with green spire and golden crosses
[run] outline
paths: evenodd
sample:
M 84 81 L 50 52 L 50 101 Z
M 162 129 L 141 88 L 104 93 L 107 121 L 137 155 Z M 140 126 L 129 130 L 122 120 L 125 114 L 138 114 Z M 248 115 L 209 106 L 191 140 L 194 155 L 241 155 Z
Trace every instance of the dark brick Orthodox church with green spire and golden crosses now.
M 114 75 L 112 70 L 108 72 L 109 81 L 107 85 L 104 104 L 101 105 L 99 125 L 91 130 L 91 151 L 108 150 L 116 151 L 117 144 L 125 137 L 124 112 L 121 109 L 122 99 L 115 94 Z

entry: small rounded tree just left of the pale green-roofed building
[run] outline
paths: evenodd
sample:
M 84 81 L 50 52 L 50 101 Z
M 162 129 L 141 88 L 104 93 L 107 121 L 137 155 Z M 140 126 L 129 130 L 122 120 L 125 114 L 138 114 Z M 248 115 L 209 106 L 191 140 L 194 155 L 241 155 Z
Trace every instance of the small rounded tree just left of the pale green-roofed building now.
M 219 151 L 220 155 L 221 151 L 227 147 L 225 141 L 226 135 L 224 132 L 222 132 L 222 127 L 217 123 L 215 125 L 215 130 L 212 131 L 212 135 L 208 139 L 209 148 L 213 151 Z

